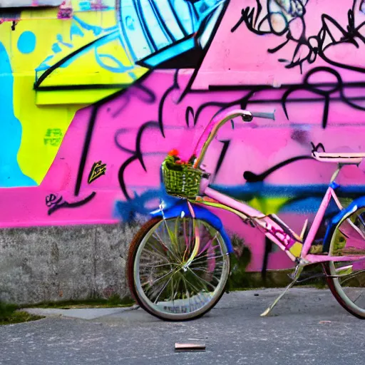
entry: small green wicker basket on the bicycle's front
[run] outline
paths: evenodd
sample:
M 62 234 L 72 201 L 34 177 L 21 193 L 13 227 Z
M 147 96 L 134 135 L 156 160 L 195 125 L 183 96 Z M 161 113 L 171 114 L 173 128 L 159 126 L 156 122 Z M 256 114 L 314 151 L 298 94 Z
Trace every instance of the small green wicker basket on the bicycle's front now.
M 193 199 L 199 194 L 202 171 L 191 165 L 180 165 L 172 156 L 162 164 L 163 184 L 169 195 Z

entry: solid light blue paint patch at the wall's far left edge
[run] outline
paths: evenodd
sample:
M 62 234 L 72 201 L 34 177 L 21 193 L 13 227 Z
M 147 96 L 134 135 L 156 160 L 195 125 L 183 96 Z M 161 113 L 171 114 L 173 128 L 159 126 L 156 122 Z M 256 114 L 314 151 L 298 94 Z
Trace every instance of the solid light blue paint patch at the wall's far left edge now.
M 13 109 L 13 75 L 9 56 L 0 42 L 0 187 L 35 186 L 34 180 L 24 175 L 16 156 L 21 144 L 21 123 Z

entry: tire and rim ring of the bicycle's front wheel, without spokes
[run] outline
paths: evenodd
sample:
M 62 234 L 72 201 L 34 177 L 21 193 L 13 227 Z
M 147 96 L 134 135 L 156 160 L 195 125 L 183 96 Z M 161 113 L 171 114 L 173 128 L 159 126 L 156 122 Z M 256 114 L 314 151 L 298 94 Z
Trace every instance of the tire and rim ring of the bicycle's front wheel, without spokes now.
M 173 220 L 176 219 L 178 218 L 173 218 Z M 191 220 L 191 218 L 185 218 L 185 220 L 186 219 Z M 158 227 L 161 224 L 163 224 L 163 219 L 161 217 L 155 217 L 149 220 L 148 222 L 145 223 L 145 225 L 143 225 L 143 227 L 140 228 L 140 230 L 130 243 L 128 251 L 128 260 L 126 265 L 128 286 L 130 288 L 130 292 L 133 295 L 135 301 L 140 305 L 141 308 L 145 310 L 145 312 L 148 312 L 149 314 L 152 314 L 153 316 L 158 317 L 159 319 L 170 322 L 180 322 L 180 321 L 183 322 L 202 317 L 207 312 L 209 312 L 213 307 L 215 307 L 215 305 L 217 304 L 217 302 L 219 302 L 220 298 L 225 292 L 227 279 L 230 273 L 230 257 L 226 253 L 225 256 L 223 256 L 225 268 L 222 269 L 222 277 L 220 278 L 219 289 L 217 290 L 217 292 L 215 292 L 210 301 L 207 302 L 207 304 L 205 304 L 202 308 L 198 309 L 197 311 L 192 311 L 190 313 L 169 313 L 160 311 L 155 307 L 154 304 L 152 304 L 152 302 L 149 301 L 146 295 L 143 295 L 143 293 L 140 292 L 140 289 L 138 289 L 138 287 L 140 287 L 139 284 L 140 275 L 139 272 L 138 274 L 136 274 L 136 267 L 138 267 L 139 265 L 138 259 L 140 257 L 140 254 L 138 254 L 138 252 L 139 250 L 143 250 L 143 247 L 141 247 L 141 245 L 146 245 L 146 242 L 148 242 L 150 236 L 153 235 L 153 230 L 156 229 L 156 227 Z M 209 225 L 211 228 L 213 228 L 208 222 L 205 222 L 205 225 Z M 217 234 L 219 235 L 219 232 L 217 232 Z M 222 245 L 224 245 L 223 250 L 227 250 L 227 248 L 225 247 L 224 240 L 220 235 L 219 237 L 220 237 L 220 242 L 222 242 Z M 189 303 L 190 303 L 190 297 L 189 297 Z

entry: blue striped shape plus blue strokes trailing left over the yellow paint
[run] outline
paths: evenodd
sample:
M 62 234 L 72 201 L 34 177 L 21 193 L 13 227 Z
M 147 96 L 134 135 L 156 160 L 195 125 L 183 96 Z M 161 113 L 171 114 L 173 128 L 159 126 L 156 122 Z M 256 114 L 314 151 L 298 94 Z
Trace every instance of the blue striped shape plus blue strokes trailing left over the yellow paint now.
M 84 31 L 91 31 L 96 37 L 102 36 L 102 39 L 76 51 L 58 67 L 67 67 L 84 53 L 93 51 L 99 66 L 113 73 L 128 72 L 135 79 L 132 72 L 135 63 L 155 68 L 164 61 L 191 51 L 198 44 L 204 48 L 225 3 L 225 0 L 146 0 L 142 6 L 140 0 L 119 1 L 119 26 L 103 28 L 73 15 L 71 42 L 76 36 L 83 37 Z M 197 34 L 199 36 L 195 38 Z M 98 52 L 99 47 L 115 40 L 125 49 L 133 66 L 125 66 L 115 56 Z M 52 46 L 53 53 L 61 52 L 62 47 L 73 48 L 73 44 L 63 41 L 58 34 L 57 42 Z M 53 56 L 48 56 L 36 71 L 50 68 L 49 62 Z

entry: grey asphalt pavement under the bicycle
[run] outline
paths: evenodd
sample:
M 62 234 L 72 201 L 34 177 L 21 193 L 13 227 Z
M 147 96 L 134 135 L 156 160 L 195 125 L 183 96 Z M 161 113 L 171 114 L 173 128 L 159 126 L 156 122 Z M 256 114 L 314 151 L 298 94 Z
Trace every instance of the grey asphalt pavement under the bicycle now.
M 365 321 L 326 289 L 291 289 L 259 317 L 280 290 L 225 294 L 191 322 L 163 322 L 135 308 L 44 310 L 45 319 L 0 327 L 0 364 L 365 363 Z M 176 342 L 206 349 L 175 352 Z

